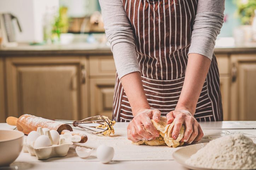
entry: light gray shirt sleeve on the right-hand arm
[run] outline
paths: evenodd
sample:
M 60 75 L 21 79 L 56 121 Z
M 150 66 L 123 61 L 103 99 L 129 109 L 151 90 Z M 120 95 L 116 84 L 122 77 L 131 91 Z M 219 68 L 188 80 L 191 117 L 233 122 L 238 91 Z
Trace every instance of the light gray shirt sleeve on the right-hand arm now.
M 198 0 L 188 54 L 213 57 L 215 40 L 223 24 L 225 0 Z

